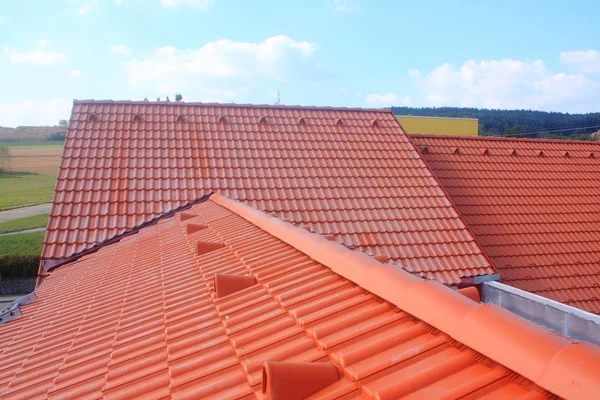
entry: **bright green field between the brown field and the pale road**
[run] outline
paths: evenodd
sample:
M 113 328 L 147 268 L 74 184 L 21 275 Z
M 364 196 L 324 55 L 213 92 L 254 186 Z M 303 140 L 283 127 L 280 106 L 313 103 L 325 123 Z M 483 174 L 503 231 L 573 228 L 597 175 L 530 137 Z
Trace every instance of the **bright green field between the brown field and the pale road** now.
M 0 174 L 0 210 L 52 201 L 56 175 Z

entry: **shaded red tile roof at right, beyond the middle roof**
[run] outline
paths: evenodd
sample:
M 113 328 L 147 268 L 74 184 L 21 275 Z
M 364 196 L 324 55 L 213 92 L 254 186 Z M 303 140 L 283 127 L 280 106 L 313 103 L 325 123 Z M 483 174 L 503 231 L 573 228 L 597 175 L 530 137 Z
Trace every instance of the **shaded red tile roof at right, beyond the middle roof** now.
M 504 283 L 600 313 L 600 145 L 412 140 Z

